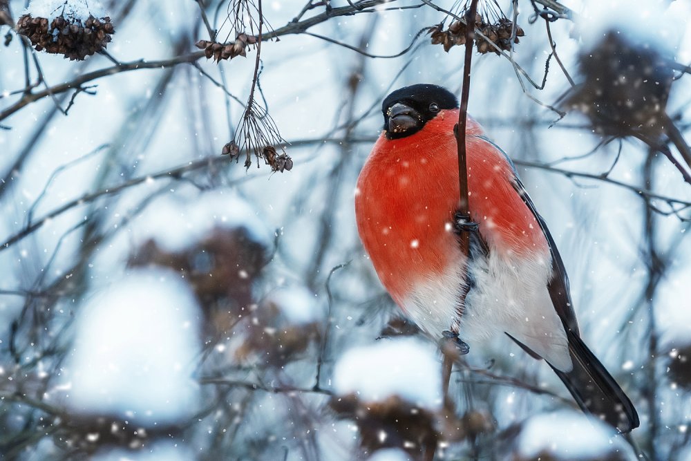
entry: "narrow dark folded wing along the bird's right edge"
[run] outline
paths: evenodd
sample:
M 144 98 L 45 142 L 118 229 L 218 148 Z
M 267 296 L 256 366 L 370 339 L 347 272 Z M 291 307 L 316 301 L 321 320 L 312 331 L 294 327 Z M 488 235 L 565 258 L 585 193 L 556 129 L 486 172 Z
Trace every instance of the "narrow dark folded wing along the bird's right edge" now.
M 495 149 L 500 151 L 502 155 L 507 159 L 507 162 L 511 165 L 513 169 L 513 188 L 518 192 L 518 195 L 522 198 L 523 202 L 527 205 L 530 211 L 535 216 L 536 220 L 540 224 L 540 229 L 542 229 L 542 234 L 545 235 L 547 243 L 549 244 L 549 252 L 552 256 L 552 276 L 547 284 L 547 290 L 549 291 L 549 297 L 554 305 L 554 310 L 556 310 L 559 318 L 564 324 L 566 330 L 571 330 L 577 336 L 580 336 L 580 331 L 578 330 L 578 320 L 576 320 L 576 312 L 574 312 L 574 303 L 571 301 L 571 292 L 569 291 L 569 276 L 566 273 L 566 268 L 564 267 L 564 262 L 557 250 L 557 245 L 554 243 L 554 239 L 551 234 L 549 234 L 549 229 L 547 229 L 547 223 L 542 219 L 542 216 L 538 213 L 538 210 L 533 204 L 533 200 L 530 199 L 528 192 L 525 190 L 523 183 L 520 178 L 518 178 L 518 171 L 515 169 L 513 161 L 506 152 L 504 152 L 497 144 L 495 144 L 489 138 L 483 135 L 477 136 L 491 144 Z

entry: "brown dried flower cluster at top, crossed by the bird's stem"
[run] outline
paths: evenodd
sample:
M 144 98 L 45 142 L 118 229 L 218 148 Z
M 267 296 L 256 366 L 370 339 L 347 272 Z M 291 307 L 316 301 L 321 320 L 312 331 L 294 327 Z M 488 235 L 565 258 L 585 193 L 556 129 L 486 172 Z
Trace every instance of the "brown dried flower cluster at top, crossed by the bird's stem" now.
M 475 28 L 480 30 L 480 32 L 487 37 L 487 39 L 475 37 L 477 53 L 481 53 L 482 55 L 489 51 L 500 54 L 498 50 L 491 46 L 489 41 L 495 44 L 500 50 L 509 51 L 511 50 L 512 35 L 513 43 L 515 44 L 519 42 L 518 37 L 523 37 L 525 35 L 523 29 L 520 28 L 518 24 L 514 25 L 511 19 L 505 17 L 500 17 L 495 23 L 489 23 L 479 14 L 475 15 Z M 466 32 L 467 26 L 462 21 L 451 23 L 446 30 L 444 30 L 443 23 L 439 23 L 437 26 L 428 29 L 432 44 L 441 44 L 444 46 L 444 51 L 447 53 L 453 46 L 464 45 L 466 43 Z

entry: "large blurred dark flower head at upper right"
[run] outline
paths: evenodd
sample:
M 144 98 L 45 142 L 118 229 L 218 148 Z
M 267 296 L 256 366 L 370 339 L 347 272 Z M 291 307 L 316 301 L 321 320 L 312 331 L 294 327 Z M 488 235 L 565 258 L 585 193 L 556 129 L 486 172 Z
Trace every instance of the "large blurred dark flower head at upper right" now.
M 659 50 L 612 31 L 578 59 L 581 82 L 567 96 L 567 108 L 585 113 L 599 133 L 659 135 L 674 82 Z

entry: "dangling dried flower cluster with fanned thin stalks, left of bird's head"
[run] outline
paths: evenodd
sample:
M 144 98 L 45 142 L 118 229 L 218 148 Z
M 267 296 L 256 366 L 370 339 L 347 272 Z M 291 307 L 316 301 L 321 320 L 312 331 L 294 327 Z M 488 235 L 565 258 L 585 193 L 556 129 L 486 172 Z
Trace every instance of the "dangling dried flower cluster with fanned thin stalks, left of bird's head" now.
M 254 153 L 257 160 L 264 160 L 272 171 L 283 173 L 283 171 L 290 171 L 293 167 L 292 158 L 285 151 L 279 154 L 274 147 L 280 146 L 283 142 L 281 134 L 278 133 L 278 127 L 266 109 L 256 104 L 254 100 L 250 100 L 238 127 L 236 140 L 227 142 L 221 154 L 238 161 L 240 151 L 244 151 L 245 168 L 249 168 L 252 165 L 252 153 Z

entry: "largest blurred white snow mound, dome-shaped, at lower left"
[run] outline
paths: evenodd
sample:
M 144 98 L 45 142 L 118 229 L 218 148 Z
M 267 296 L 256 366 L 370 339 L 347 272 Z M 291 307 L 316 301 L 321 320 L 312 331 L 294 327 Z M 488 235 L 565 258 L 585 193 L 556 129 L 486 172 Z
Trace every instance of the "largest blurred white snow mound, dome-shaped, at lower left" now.
M 139 424 L 189 415 L 198 315 L 189 286 L 171 271 L 135 270 L 97 293 L 77 319 L 68 406 Z

